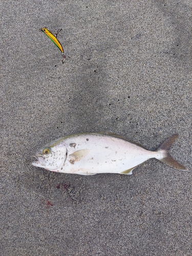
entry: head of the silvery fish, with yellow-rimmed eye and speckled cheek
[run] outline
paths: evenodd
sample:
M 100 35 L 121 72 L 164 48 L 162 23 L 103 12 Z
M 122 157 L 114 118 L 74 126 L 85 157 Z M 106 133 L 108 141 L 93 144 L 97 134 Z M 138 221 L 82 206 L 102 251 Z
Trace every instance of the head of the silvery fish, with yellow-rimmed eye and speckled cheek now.
M 40 150 L 33 155 L 36 161 L 32 165 L 52 170 L 53 172 L 63 166 L 67 158 L 67 147 L 59 143 L 50 143 L 41 147 Z

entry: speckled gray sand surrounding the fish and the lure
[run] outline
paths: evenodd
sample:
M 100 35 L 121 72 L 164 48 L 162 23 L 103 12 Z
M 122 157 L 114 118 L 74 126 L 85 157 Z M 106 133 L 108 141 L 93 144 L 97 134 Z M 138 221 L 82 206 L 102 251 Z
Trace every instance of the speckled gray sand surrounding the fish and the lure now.
M 1 1 L 1 255 L 192 255 L 192 3 Z M 39 28 L 58 35 L 66 53 Z M 155 149 L 179 133 L 180 172 L 31 165 L 53 139 L 110 130 Z

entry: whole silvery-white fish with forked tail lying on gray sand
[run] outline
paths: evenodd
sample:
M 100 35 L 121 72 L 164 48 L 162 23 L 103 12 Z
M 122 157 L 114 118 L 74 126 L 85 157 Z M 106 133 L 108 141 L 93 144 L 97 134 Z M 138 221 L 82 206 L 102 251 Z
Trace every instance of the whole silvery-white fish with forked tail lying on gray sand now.
M 186 169 L 169 154 L 178 138 L 174 134 L 155 151 L 110 131 L 74 134 L 56 139 L 33 155 L 32 165 L 52 172 L 95 175 L 117 173 L 131 175 L 133 169 L 151 158 L 176 169 Z

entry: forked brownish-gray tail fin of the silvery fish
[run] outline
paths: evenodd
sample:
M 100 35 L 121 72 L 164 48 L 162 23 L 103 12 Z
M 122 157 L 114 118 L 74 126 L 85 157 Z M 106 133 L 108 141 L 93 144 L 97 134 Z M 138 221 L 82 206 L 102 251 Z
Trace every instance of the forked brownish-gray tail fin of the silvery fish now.
M 163 163 L 166 163 L 170 167 L 173 167 L 175 169 L 179 170 L 186 170 L 186 167 L 180 164 L 178 161 L 176 161 L 172 156 L 169 154 L 170 147 L 172 144 L 176 141 L 178 138 L 178 134 L 174 134 L 170 136 L 168 139 L 166 139 L 155 152 L 159 153 L 159 155 L 156 157 L 158 160 L 160 160 Z

